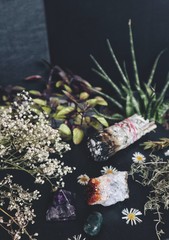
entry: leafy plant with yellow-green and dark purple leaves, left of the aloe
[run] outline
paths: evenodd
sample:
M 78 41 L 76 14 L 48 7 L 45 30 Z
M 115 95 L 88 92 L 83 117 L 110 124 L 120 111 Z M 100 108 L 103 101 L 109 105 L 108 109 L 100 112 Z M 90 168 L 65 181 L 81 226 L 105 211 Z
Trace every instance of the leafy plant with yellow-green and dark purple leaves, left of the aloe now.
M 17 89 L 13 87 L 6 90 L 2 93 L 2 102 L 10 104 Z M 108 103 L 100 93 L 100 88 L 93 87 L 80 76 L 63 71 L 58 66 L 51 69 L 42 91 L 29 91 L 34 101 L 33 111 L 36 114 L 45 112 L 52 126 L 59 129 L 62 138 L 73 140 L 74 144 L 83 140 L 89 128 L 100 130 L 108 127 L 107 116 L 101 111 Z M 118 117 L 116 115 L 115 119 Z M 113 119 L 113 116 L 108 118 Z

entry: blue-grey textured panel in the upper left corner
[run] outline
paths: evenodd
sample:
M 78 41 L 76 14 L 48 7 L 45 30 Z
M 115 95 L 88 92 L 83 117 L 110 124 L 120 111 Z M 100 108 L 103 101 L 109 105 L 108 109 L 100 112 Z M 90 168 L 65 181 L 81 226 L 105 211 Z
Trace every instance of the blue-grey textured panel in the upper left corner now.
M 0 85 L 45 74 L 49 60 L 43 0 L 0 0 Z

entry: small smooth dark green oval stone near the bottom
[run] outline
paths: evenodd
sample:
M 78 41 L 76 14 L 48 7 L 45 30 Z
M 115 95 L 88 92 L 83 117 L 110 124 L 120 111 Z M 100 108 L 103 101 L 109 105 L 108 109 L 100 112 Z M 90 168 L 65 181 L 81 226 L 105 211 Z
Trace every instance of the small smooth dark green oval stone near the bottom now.
M 99 233 L 102 222 L 102 214 L 100 212 L 93 212 L 88 216 L 83 229 L 88 235 L 95 236 Z

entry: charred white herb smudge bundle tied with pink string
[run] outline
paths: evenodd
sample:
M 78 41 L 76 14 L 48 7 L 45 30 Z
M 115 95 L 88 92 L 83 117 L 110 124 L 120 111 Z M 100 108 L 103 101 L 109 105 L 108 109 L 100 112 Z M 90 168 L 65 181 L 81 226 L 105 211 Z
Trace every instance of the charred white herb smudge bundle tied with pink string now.
M 134 114 L 94 135 L 89 139 L 88 148 L 95 161 L 105 161 L 156 127 L 153 121 Z

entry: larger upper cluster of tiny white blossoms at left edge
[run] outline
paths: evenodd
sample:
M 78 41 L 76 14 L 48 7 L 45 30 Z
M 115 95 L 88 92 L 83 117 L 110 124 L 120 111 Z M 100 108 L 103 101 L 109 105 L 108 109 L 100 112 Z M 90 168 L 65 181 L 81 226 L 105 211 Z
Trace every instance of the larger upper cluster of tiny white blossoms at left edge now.
M 35 177 L 36 183 L 47 180 L 53 187 L 64 186 L 63 176 L 73 169 L 52 156 L 62 157 L 70 146 L 33 104 L 24 92 L 10 107 L 0 110 L 0 169 L 23 170 Z

